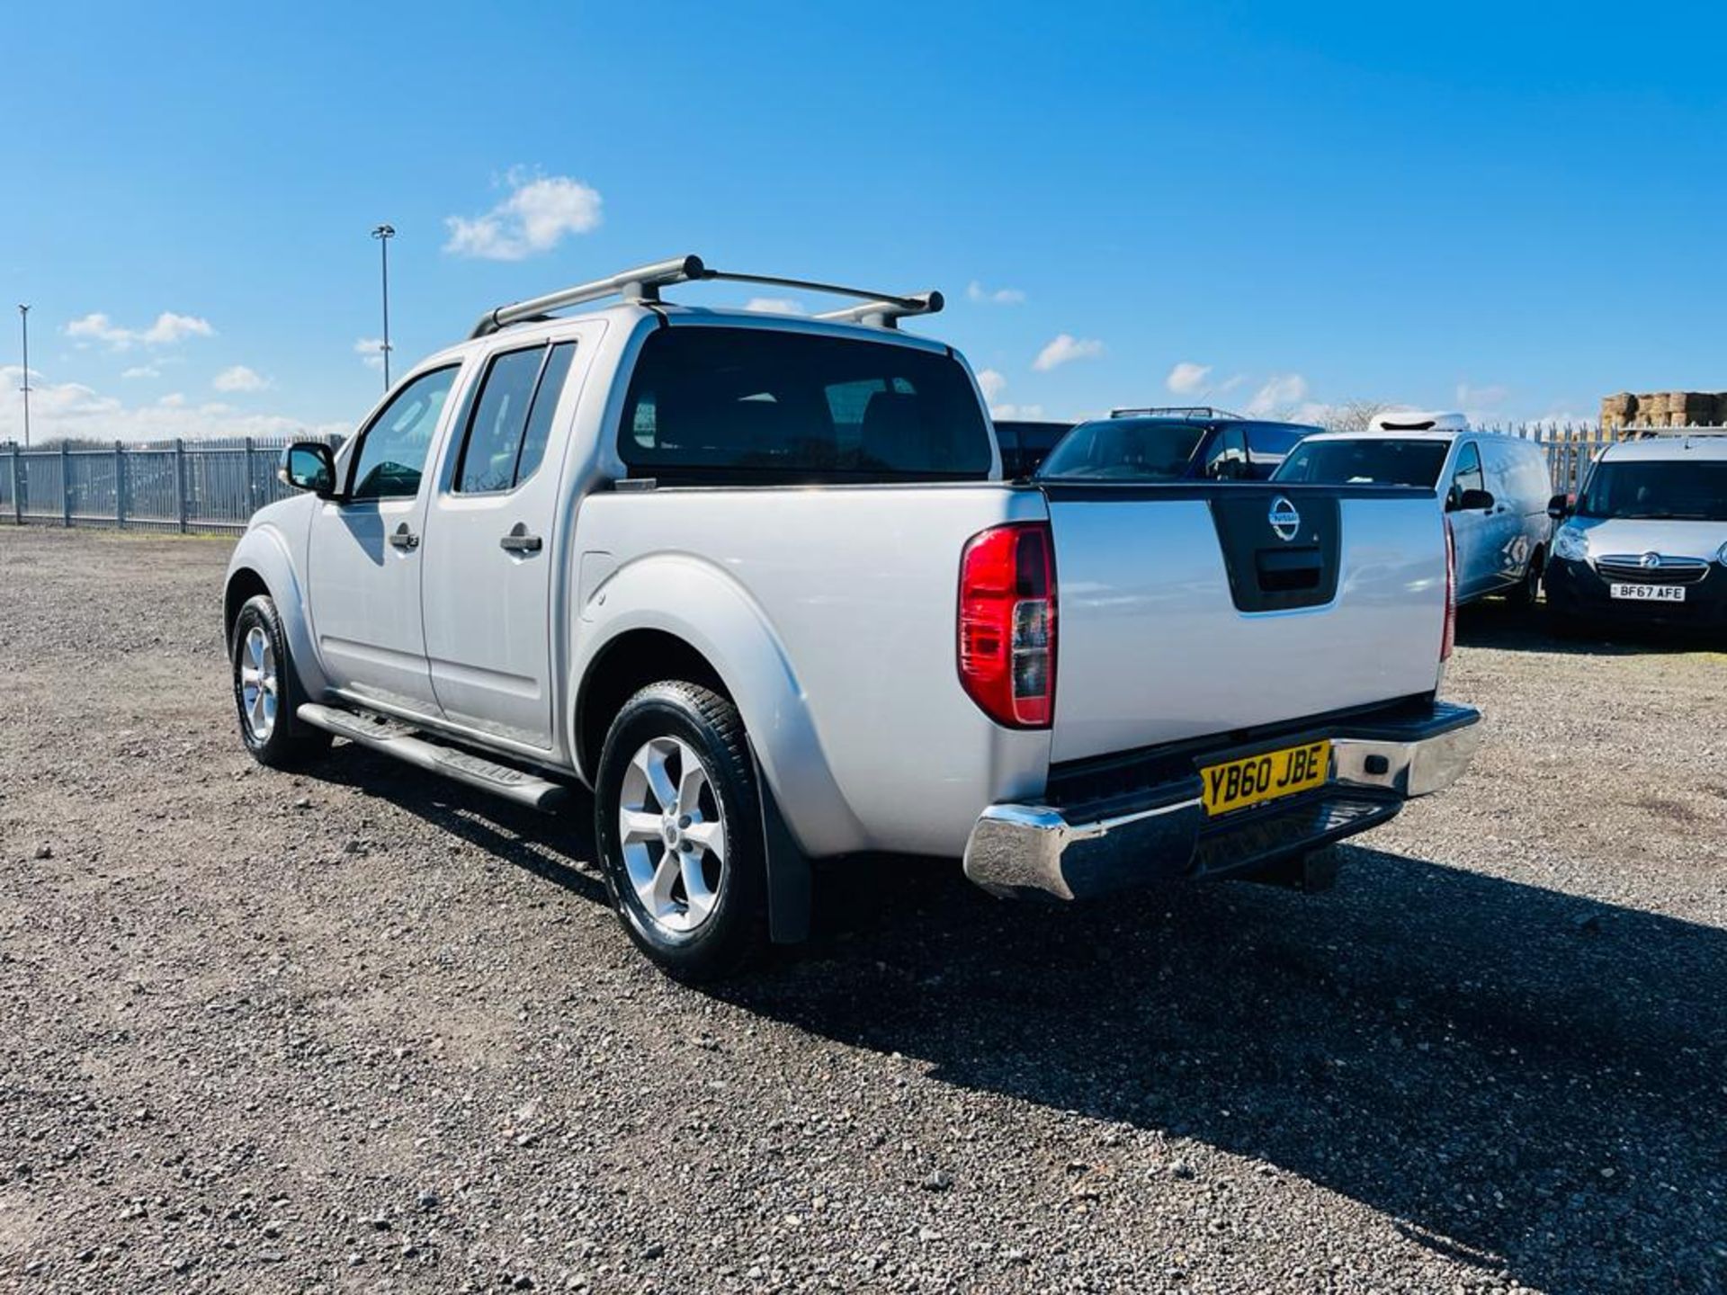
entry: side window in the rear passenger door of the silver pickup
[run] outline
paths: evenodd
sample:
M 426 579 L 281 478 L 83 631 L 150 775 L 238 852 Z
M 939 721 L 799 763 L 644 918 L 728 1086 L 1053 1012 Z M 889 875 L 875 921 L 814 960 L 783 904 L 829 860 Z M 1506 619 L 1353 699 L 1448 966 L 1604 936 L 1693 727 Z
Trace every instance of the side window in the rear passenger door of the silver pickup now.
M 573 342 L 492 356 L 456 461 L 458 494 L 513 490 L 534 475 L 573 356 Z

